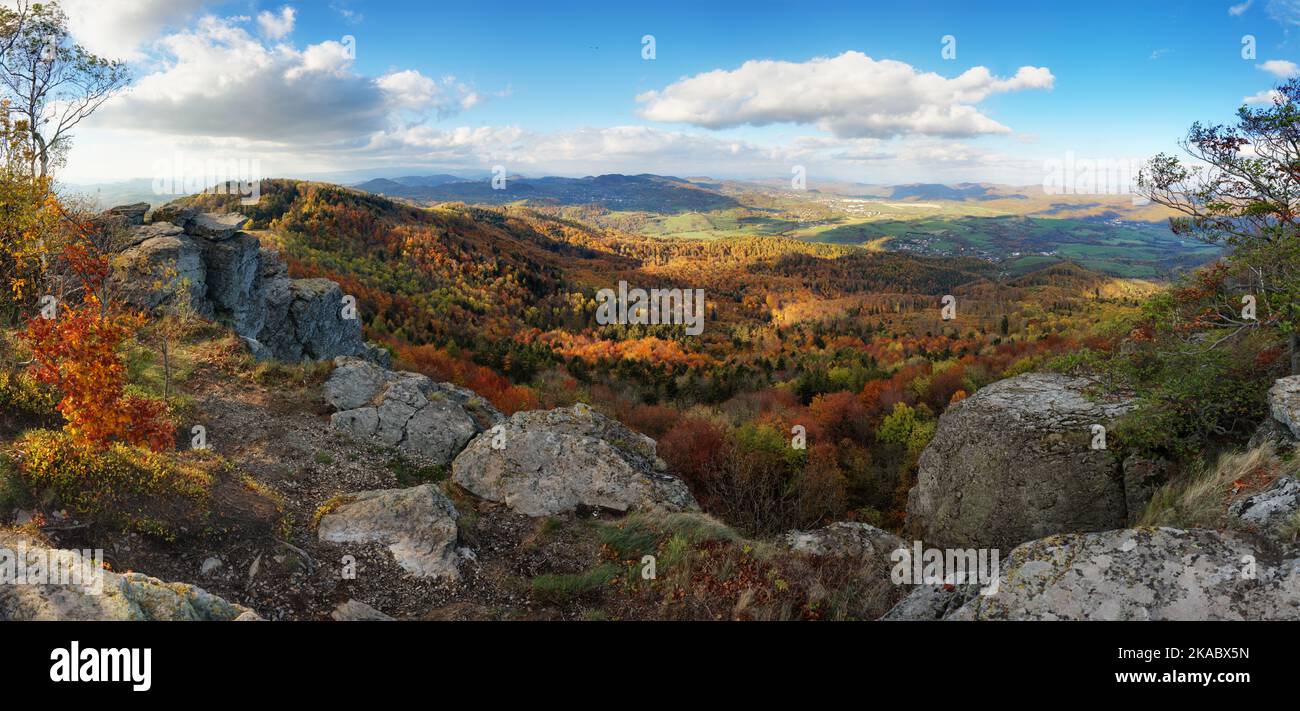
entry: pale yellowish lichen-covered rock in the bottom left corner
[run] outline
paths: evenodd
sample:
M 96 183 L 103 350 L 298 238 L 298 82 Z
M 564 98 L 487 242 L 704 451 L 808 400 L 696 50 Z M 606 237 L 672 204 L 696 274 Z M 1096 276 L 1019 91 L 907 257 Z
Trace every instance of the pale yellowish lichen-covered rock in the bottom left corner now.
M 73 585 L 0 582 L 0 620 L 260 620 L 247 607 L 183 582 L 164 582 L 140 573 L 96 569 L 77 551 L 49 549 L 17 532 L 0 530 L 0 571 L 57 565 L 79 568 Z M 6 573 L 0 573 L 6 575 Z M 83 585 L 100 576 L 98 584 Z

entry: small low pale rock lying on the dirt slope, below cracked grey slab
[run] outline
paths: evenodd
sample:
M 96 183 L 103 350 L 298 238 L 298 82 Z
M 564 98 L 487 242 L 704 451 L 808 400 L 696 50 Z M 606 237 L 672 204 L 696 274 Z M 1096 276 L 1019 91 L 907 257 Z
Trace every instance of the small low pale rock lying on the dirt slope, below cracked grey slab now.
M 382 543 L 417 577 L 460 578 L 456 507 L 432 484 L 350 494 L 321 516 L 317 537 L 332 543 Z

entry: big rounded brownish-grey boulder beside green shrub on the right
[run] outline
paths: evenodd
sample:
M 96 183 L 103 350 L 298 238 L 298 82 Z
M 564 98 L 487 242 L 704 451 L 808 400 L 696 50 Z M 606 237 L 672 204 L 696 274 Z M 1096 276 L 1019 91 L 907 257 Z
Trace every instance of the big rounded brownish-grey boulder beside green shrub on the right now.
M 907 497 L 913 533 L 937 547 L 1010 549 L 1053 533 L 1124 526 L 1140 502 L 1126 493 L 1121 458 L 1092 447 L 1092 428 L 1131 404 L 1096 399 L 1089 385 L 1032 373 L 948 408 Z

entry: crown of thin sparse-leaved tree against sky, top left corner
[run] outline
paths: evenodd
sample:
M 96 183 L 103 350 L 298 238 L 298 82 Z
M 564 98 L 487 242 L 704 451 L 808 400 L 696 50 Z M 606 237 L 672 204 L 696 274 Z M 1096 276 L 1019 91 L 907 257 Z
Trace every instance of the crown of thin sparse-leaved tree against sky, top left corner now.
M 21 16 L 20 16 L 21 13 Z M 31 138 L 31 170 L 48 177 L 72 142 L 72 130 L 130 81 L 120 61 L 87 52 L 72 40 L 68 16 L 57 3 L 27 5 L 18 16 L 0 55 L 0 87 L 26 123 Z

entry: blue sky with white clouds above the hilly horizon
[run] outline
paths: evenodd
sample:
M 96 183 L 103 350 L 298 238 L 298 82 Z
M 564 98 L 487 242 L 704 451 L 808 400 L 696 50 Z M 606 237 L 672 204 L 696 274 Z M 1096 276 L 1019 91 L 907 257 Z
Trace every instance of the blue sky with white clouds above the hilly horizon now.
M 5 1 L 5 0 L 0 0 Z M 1300 0 L 62 0 L 134 81 L 62 178 L 1043 182 L 1300 73 Z

